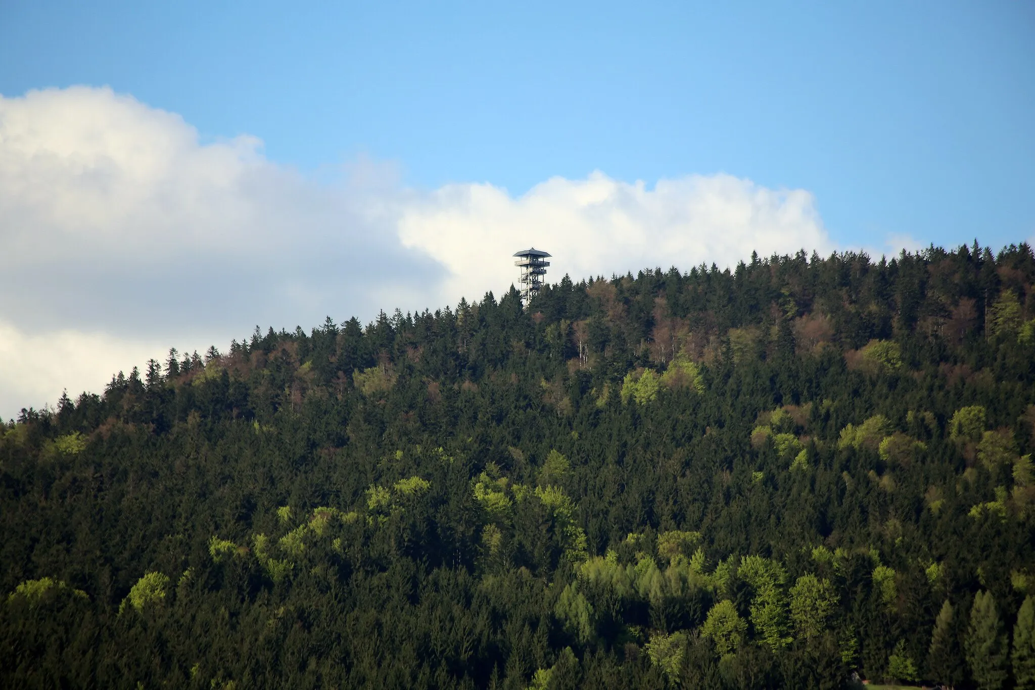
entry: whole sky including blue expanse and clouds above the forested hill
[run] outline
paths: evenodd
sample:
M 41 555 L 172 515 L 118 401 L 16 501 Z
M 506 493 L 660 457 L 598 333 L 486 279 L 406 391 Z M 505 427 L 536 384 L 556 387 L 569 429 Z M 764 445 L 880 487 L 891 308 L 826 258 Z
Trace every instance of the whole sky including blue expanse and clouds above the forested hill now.
M 1033 122 L 1031 0 L 0 0 L 0 417 L 498 295 L 528 245 L 556 280 L 1032 241 Z

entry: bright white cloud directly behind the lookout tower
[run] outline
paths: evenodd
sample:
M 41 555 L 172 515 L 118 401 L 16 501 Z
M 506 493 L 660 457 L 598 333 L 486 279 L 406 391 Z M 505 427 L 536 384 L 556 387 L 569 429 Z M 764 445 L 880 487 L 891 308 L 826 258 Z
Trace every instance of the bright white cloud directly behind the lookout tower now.
M 530 245 L 554 254 L 555 280 L 733 266 L 752 249 L 832 248 L 809 192 L 730 175 L 660 180 L 648 189 L 596 172 L 550 179 L 518 199 L 490 184 L 453 184 L 408 204 L 400 237 L 448 267 L 446 294 L 468 298 L 509 287 L 516 277 L 510 256 Z

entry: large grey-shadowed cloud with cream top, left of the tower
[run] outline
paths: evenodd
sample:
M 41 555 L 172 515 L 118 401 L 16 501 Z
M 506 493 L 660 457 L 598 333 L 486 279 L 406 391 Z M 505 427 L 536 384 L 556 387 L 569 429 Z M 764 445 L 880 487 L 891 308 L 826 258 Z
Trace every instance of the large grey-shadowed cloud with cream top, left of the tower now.
M 109 89 L 0 97 L 0 291 L 17 296 L 0 318 L 229 338 L 368 313 L 372 280 L 415 292 L 441 272 L 394 236 L 404 191 L 372 163 L 342 173 L 317 183 L 249 137 L 202 145 Z

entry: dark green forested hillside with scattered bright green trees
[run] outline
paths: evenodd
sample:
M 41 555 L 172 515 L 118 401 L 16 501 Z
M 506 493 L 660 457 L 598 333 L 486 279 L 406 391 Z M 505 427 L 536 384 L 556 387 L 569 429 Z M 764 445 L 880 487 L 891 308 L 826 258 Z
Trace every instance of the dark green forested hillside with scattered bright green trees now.
M 1035 688 L 1035 257 L 259 328 L 0 423 L 9 688 Z

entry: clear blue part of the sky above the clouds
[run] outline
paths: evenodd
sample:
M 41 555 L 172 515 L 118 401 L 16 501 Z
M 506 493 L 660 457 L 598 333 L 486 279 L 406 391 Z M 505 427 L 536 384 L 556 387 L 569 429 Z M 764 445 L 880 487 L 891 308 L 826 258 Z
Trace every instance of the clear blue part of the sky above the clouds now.
M 7 0 L 0 93 L 110 85 L 427 188 L 726 172 L 847 244 L 1035 233 L 1031 2 L 296 5 Z

